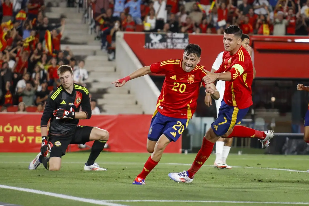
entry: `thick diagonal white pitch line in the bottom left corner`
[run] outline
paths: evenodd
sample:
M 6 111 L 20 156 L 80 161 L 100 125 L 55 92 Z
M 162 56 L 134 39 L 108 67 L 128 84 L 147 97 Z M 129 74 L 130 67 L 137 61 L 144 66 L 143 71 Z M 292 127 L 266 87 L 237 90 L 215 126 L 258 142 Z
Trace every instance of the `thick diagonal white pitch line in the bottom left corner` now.
M 105 206 L 128 206 L 124 204 L 109 203 L 104 200 L 93 200 L 93 199 L 87 199 L 87 198 L 81 198 L 81 197 L 74 197 L 70 195 L 63 195 L 63 194 L 57 194 L 53 192 L 45 192 L 45 191 L 33 190 L 33 189 L 22 188 L 22 187 L 11 187 L 7 185 L 0 185 L 0 188 L 18 190 L 18 191 L 23 191 L 23 192 L 30 192 L 30 193 L 35 193 L 35 194 L 44 195 L 44 196 L 47 195 L 47 196 L 58 197 L 58 198 L 66 199 L 66 200 L 75 200 L 79 202 L 92 203 L 92 204 L 105 205 Z

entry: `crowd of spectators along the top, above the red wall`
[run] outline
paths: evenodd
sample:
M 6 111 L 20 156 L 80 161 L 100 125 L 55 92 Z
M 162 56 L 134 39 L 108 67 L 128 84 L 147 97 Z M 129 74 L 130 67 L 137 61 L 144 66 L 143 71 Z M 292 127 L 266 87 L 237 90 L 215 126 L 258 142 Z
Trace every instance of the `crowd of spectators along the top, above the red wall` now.
M 117 31 L 308 35 L 309 0 L 90 0 L 102 49 Z

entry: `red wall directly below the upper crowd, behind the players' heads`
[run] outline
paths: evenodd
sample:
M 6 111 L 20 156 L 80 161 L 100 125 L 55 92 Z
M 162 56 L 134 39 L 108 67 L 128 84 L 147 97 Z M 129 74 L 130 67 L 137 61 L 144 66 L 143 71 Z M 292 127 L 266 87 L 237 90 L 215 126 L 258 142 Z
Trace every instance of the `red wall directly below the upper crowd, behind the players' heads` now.
M 145 48 L 143 33 L 125 33 L 124 39 L 144 66 L 182 57 L 181 49 Z M 308 36 L 252 36 L 256 77 L 309 78 L 309 43 L 296 42 L 306 40 L 309 40 Z M 222 35 L 189 34 L 189 43 L 200 45 L 201 64 L 205 65 L 207 70 L 211 70 L 217 55 L 224 49 Z

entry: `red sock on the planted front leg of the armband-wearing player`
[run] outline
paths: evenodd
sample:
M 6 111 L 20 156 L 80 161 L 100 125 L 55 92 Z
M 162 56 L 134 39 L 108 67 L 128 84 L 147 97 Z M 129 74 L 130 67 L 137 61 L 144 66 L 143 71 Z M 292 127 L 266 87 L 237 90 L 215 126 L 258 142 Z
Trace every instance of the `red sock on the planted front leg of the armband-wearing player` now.
M 212 150 L 214 147 L 214 143 L 208 141 L 203 138 L 203 143 L 200 151 L 198 151 L 196 158 L 188 170 L 189 178 L 193 178 L 194 174 L 197 173 L 197 171 L 201 168 L 201 166 L 206 162 L 206 160 L 209 158 Z

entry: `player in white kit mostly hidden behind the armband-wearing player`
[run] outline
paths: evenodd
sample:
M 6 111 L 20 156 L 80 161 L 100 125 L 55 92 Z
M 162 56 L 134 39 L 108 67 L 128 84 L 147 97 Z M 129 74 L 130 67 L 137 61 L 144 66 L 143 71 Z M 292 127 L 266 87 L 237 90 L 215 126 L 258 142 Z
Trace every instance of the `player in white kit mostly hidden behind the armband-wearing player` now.
M 251 56 L 252 62 L 253 62 L 253 57 L 252 57 L 252 48 L 249 46 L 250 44 L 250 37 L 247 34 L 243 34 L 241 36 L 241 45 L 246 48 L 246 50 L 248 51 L 248 53 Z M 212 69 L 211 72 L 215 72 L 219 69 L 220 65 L 222 64 L 222 56 L 223 56 L 223 52 L 219 53 L 219 55 L 217 56 L 216 60 L 214 61 L 214 64 L 212 65 Z M 255 68 L 253 66 L 253 78 L 255 78 Z M 217 108 L 217 117 L 218 117 L 218 113 L 219 113 L 219 108 L 221 106 L 221 101 L 223 99 L 223 94 L 224 94 L 224 89 L 225 89 L 225 81 L 217 81 L 216 84 L 217 90 L 220 93 L 220 98 L 218 100 L 215 100 L 216 102 L 216 108 Z M 210 95 L 206 95 L 205 96 L 205 104 L 207 106 L 211 105 L 211 97 Z M 222 138 L 220 137 L 218 139 L 218 141 L 216 141 L 216 160 L 214 161 L 214 167 L 216 168 L 226 168 L 226 169 L 231 169 L 231 166 L 228 166 L 226 164 L 226 158 L 228 156 L 228 154 L 230 153 L 230 149 L 231 149 L 231 145 L 233 142 L 233 138 Z

